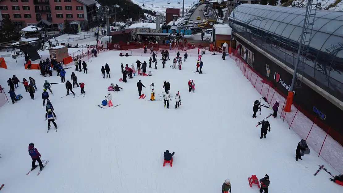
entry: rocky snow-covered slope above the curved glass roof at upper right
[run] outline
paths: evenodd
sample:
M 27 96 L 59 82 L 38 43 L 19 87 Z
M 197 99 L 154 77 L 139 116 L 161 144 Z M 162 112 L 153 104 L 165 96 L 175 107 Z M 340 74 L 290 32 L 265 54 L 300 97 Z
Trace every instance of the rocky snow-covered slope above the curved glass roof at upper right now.
M 291 0 L 286 3 L 283 3 L 282 6 L 306 8 L 307 2 L 308 0 Z M 316 0 L 314 0 L 314 4 L 317 4 Z M 318 0 L 317 9 L 343 11 L 343 0 Z

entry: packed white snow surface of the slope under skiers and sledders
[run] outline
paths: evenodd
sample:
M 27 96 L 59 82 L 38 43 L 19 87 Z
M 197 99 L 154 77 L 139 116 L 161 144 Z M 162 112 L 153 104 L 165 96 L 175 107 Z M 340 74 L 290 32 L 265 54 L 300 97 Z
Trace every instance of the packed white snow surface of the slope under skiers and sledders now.
M 132 55 L 139 53 L 134 52 Z M 170 58 L 175 56 L 170 50 Z M 1 192 L 210 193 L 220 192 L 229 178 L 232 193 L 256 193 L 258 188 L 249 186 L 248 177 L 255 174 L 260 179 L 267 173 L 271 193 L 342 193 L 343 186 L 332 183 L 327 172 L 321 170 L 313 176 L 318 165 L 338 174 L 314 151 L 295 161 L 300 137 L 288 130 L 282 119 L 269 118 L 271 132 L 267 138 L 259 138 L 260 126 L 255 125 L 271 110 L 262 109 L 258 118 L 251 118 L 253 101 L 261 95 L 232 59 L 224 61 L 221 55 L 206 53 L 202 56 L 204 74 L 197 74 L 192 72 L 197 55 L 193 50 L 188 56 L 182 70 L 169 68 L 171 60 L 162 69 L 158 60 L 158 70 L 147 68 L 152 76 L 136 74 L 123 83 L 118 81 L 122 77 L 120 64 L 131 67 L 139 59 L 149 66 L 149 54 L 119 57 L 119 51 L 99 53 L 86 61 L 88 74 L 75 72 L 78 82 L 85 84 L 85 97 L 80 96 L 80 88 L 73 89 L 73 98 L 65 96 L 64 84 L 51 86 L 58 132 L 52 126 L 49 133 L 41 93 L 44 80 L 58 83 L 60 77 L 56 72 L 42 77 L 38 70 L 24 70 L 13 60 L 6 61 L 8 70 L 0 68 L 0 84 L 6 93 L 6 80 L 13 74 L 20 80 L 32 76 L 38 91 L 32 100 L 20 84 L 15 93 L 24 98 L 15 104 L 10 100 L 0 109 L 0 182 L 5 184 Z M 19 64 L 23 61 L 23 57 L 18 58 Z M 106 62 L 111 68 L 110 79 L 103 79 L 100 71 Z M 75 71 L 71 67 L 66 69 L 69 81 Z M 195 83 L 195 93 L 188 92 L 190 79 Z M 138 99 L 138 80 L 146 87 L 145 99 Z M 174 95 L 169 109 L 162 101 L 147 101 L 151 83 L 155 83 L 155 99 L 159 99 L 164 80 L 169 81 L 170 94 Z M 96 105 L 105 99 L 110 83 L 123 88 L 112 92 L 113 104 L 121 105 L 99 108 Z M 178 91 L 182 105 L 175 110 Z M 50 161 L 39 176 L 38 169 L 25 175 L 31 168 L 30 142 L 42 154 L 41 159 Z M 173 167 L 162 166 L 167 149 L 175 152 Z

